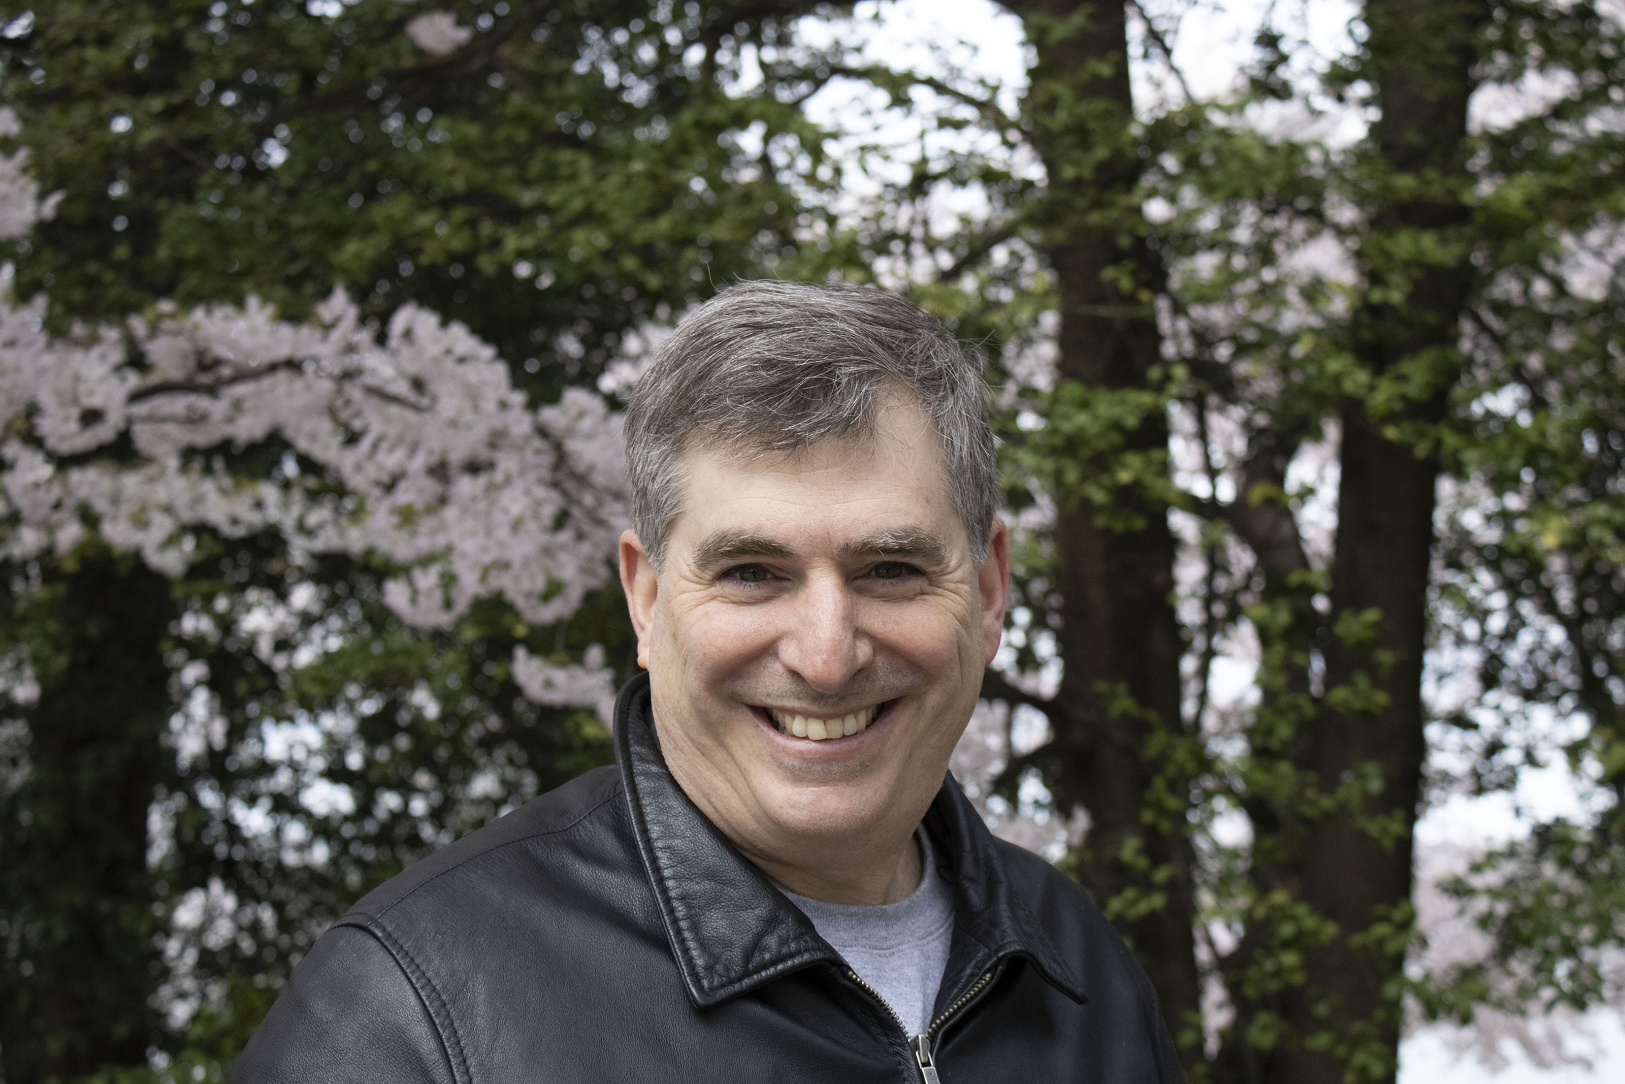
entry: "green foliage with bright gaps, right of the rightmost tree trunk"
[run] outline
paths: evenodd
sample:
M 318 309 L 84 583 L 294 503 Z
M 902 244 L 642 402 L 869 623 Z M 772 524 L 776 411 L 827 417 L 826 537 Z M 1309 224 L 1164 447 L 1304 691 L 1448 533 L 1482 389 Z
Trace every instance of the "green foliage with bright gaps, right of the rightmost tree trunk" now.
M 1474 145 L 1493 179 L 1474 202 L 1477 258 L 1493 273 L 1466 319 L 1471 349 L 1440 437 L 1462 483 L 1448 502 L 1438 627 L 1480 696 L 1448 717 L 1445 741 L 1479 793 L 1562 757 L 1592 782 L 1594 813 L 1537 826 L 1456 889 L 1492 936 L 1492 967 L 1511 977 L 1492 1001 L 1580 1006 L 1617 993 L 1596 959 L 1622 933 L 1625 294 L 1607 239 L 1625 211 L 1625 156 L 1594 119 L 1625 86 L 1625 34 L 1591 5 L 1516 3 L 1485 39 L 1495 78 L 1566 72 L 1575 89 Z M 1566 720 L 1566 736 L 1542 717 Z M 1459 1006 L 1485 973 L 1458 978 Z

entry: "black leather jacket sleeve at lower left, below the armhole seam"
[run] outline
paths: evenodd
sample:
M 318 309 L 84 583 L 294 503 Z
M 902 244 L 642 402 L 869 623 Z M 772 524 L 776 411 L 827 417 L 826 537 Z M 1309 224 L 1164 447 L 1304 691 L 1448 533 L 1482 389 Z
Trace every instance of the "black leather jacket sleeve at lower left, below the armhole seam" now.
M 366 930 L 328 930 L 232 1066 L 231 1084 L 458 1084 L 436 1016 Z

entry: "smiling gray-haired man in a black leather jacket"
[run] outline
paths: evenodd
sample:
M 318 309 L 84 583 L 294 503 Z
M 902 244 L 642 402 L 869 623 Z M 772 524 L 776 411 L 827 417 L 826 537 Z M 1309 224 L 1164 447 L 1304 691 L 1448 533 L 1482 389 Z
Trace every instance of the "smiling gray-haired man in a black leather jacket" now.
M 367 895 L 234 1079 L 1178 1081 L 1098 910 L 944 778 L 1009 590 L 977 358 L 746 283 L 627 445 L 616 767 Z

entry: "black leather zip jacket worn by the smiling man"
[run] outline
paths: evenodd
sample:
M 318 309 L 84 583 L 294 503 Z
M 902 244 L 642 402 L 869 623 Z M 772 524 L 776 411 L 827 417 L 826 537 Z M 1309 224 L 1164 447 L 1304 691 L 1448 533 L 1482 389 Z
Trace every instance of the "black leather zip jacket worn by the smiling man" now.
M 956 921 L 921 1043 L 676 785 L 647 678 L 616 704 L 616 759 L 361 900 L 234 1084 L 1180 1081 L 1112 926 L 952 778 L 925 819 Z

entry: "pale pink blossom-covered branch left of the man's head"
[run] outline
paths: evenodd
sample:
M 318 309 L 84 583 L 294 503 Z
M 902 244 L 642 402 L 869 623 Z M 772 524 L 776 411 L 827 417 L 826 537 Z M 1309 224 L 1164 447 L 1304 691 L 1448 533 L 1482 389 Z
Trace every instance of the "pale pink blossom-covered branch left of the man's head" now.
M 49 210 L 24 154 L 0 156 L 0 236 Z M 255 299 L 68 336 L 42 317 L 44 299 L 0 301 L 8 559 L 96 531 L 177 577 L 197 531 L 276 531 L 294 554 L 384 557 L 400 569 L 385 601 L 426 629 L 483 596 L 551 624 L 608 579 L 624 527 L 619 416 L 580 388 L 531 406 L 460 323 L 406 304 L 374 328 L 343 291 L 309 322 Z M 236 465 L 265 447 L 276 470 Z M 598 707 L 608 681 L 601 661 L 549 679 L 525 655 L 515 671 L 548 704 Z

